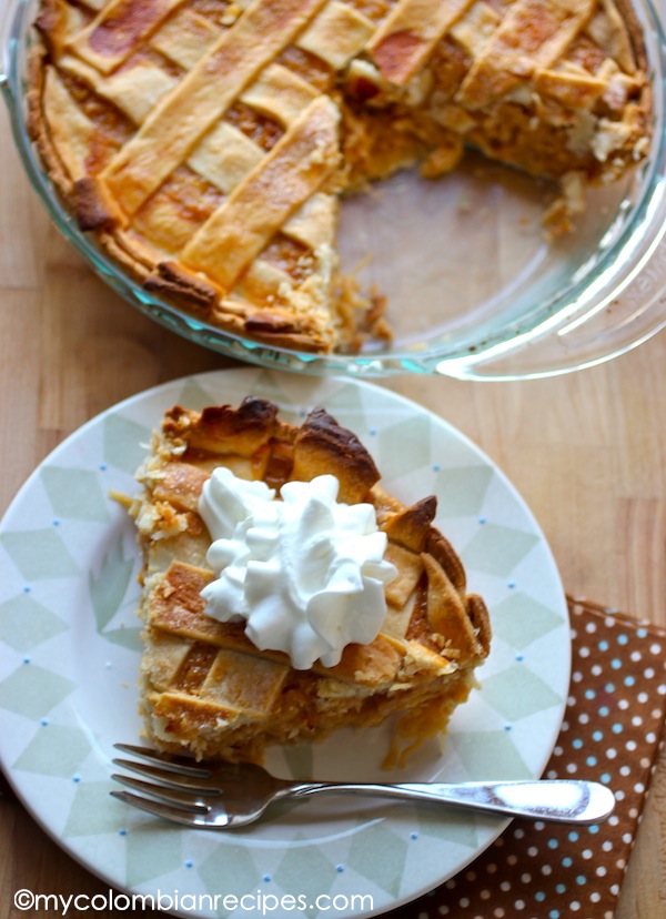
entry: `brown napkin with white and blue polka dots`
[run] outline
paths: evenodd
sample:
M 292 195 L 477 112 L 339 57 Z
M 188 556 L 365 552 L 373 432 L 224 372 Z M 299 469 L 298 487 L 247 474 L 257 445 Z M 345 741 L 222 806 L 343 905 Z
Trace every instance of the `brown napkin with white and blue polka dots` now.
M 569 599 L 572 681 L 547 778 L 615 794 L 604 824 L 516 819 L 486 851 L 391 919 L 613 919 L 666 717 L 666 630 Z

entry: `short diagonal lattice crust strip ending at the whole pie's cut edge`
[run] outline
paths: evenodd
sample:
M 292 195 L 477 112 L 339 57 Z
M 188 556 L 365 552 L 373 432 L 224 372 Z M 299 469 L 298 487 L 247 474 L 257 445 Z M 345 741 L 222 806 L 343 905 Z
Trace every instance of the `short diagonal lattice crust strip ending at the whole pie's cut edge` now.
M 225 291 L 337 165 L 339 111 L 317 97 L 209 218 L 181 259 Z

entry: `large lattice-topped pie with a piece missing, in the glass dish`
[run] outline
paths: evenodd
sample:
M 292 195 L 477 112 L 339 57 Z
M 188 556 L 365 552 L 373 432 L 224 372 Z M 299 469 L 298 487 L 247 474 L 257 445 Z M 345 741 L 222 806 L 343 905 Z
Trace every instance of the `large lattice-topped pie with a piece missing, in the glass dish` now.
M 31 132 L 80 226 L 275 346 L 389 335 L 339 271 L 342 193 L 475 148 L 559 182 L 562 230 L 649 145 L 628 0 L 42 0 L 36 24 Z

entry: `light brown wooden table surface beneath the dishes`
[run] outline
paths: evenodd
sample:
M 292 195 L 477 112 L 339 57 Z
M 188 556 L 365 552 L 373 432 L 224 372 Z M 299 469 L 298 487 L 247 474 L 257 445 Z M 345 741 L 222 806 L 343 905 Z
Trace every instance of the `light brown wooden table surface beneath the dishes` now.
M 4 112 L 0 164 L 3 512 L 36 465 L 93 415 L 154 384 L 231 362 L 159 327 L 92 274 L 29 186 Z M 666 626 L 666 335 L 552 380 L 401 376 L 381 385 L 445 417 L 504 469 L 539 521 L 569 593 Z M 0 790 L 0 919 L 26 915 L 12 906 L 20 888 L 105 891 L 47 837 L 1 777 Z M 664 916 L 666 754 L 617 919 Z

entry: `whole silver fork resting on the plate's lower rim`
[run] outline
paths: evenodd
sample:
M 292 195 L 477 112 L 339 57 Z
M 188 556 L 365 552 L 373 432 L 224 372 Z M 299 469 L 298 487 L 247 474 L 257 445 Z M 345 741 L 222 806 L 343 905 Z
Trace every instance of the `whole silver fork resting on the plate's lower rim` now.
M 195 763 L 130 744 L 115 744 L 115 748 L 135 759 L 113 763 L 143 779 L 114 774 L 113 779 L 140 794 L 113 790 L 111 795 L 186 827 L 243 827 L 261 817 L 273 801 L 307 798 L 320 792 L 431 801 L 509 817 L 582 825 L 605 820 L 615 807 L 613 792 L 595 781 L 537 779 L 400 785 L 287 781 L 248 763 Z

